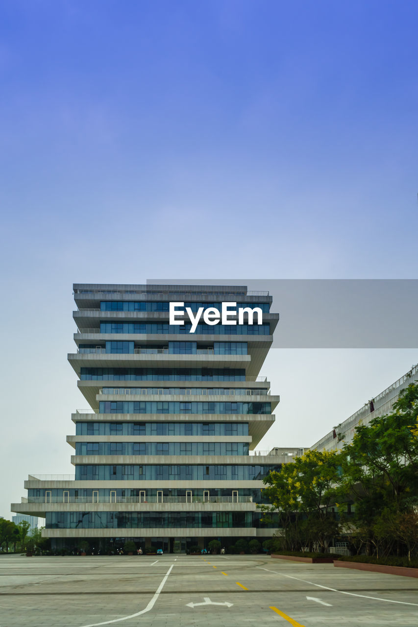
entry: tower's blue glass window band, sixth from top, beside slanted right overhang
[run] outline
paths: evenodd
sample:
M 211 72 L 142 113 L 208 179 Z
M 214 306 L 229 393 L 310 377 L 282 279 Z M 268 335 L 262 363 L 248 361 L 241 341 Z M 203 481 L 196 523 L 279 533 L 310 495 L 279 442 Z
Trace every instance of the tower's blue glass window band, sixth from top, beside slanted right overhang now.
M 79 422 L 76 435 L 248 435 L 248 423 Z

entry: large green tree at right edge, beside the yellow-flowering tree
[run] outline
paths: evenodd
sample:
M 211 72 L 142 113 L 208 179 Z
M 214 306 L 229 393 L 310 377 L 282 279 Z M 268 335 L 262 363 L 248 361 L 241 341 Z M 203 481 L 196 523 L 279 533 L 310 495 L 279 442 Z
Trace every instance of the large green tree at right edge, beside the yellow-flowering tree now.
M 400 393 L 392 413 L 357 426 L 341 456 L 338 500 L 351 500 L 353 542 L 377 556 L 415 546 L 401 521 L 412 520 L 418 495 L 418 386 Z M 347 520 L 346 525 L 350 522 Z M 412 529 L 414 532 L 414 529 Z

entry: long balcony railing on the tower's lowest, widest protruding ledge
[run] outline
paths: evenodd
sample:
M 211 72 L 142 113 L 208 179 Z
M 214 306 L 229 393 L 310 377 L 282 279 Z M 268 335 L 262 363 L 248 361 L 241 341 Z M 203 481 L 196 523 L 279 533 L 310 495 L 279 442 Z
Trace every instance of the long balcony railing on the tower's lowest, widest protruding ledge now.
M 252 503 L 252 497 L 28 497 L 28 503 Z

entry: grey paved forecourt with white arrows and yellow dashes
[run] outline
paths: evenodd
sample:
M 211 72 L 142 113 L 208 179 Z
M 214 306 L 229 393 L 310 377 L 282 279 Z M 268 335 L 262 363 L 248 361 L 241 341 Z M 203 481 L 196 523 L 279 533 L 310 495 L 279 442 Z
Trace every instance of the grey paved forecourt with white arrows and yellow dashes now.
M 418 579 L 269 556 L 0 557 L 1 627 L 96 624 L 416 627 Z

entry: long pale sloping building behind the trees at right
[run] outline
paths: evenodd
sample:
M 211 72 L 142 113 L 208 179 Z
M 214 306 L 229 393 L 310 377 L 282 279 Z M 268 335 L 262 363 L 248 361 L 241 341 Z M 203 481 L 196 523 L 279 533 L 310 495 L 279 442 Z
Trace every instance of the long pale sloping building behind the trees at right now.
M 337 424 L 321 440 L 314 443 L 310 448 L 318 451 L 341 450 L 344 444 L 350 444 L 355 436 L 355 428 L 360 424 L 368 424 L 373 418 L 385 416 L 392 411 L 392 408 L 399 399 L 400 392 L 414 383 L 417 379 L 418 366 L 413 366 L 409 372 L 392 383 L 375 398 L 370 399 L 358 409 L 354 414 L 340 424 Z

